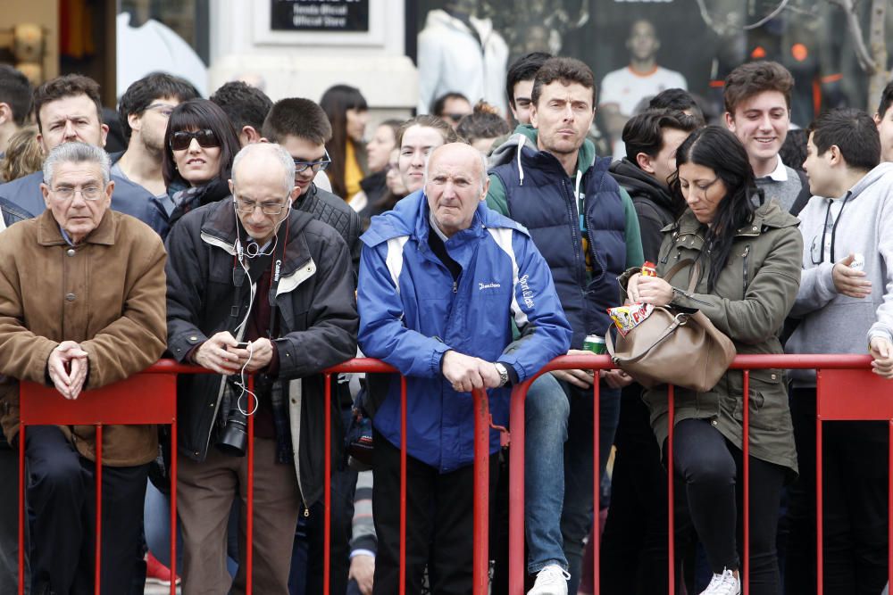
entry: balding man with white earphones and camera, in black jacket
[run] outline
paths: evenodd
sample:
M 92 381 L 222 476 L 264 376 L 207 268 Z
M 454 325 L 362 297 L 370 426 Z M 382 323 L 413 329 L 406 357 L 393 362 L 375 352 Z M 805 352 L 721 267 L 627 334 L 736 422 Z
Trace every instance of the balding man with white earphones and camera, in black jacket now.
M 221 375 L 181 379 L 189 395 L 178 410 L 183 593 L 246 590 L 247 550 L 235 583 L 223 560 L 226 519 L 235 498 L 246 502 L 248 474 L 230 431 L 244 432 L 252 416 L 253 588 L 287 595 L 298 516 L 324 486 L 332 405 L 321 371 L 356 351 L 355 285 L 344 240 L 292 208 L 299 189 L 283 147 L 246 145 L 232 173 L 233 199 L 189 211 L 167 238 L 169 350 Z M 240 387 L 248 373 L 254 394 Z

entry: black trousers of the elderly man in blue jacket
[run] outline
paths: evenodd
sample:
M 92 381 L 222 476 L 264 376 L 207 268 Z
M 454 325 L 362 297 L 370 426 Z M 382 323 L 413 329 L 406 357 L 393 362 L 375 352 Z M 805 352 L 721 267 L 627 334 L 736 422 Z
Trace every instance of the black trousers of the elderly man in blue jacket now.
M 400 585 L 400 449 L 373 433 L 372 515 L 378 535 L 375 595 L 394 595 Z M 490 457 L 490 493 L 497 455 Z M 451 473 L 406 456 L 406 593 L 421 592 L 428 565 L 433 595 L 472 591 L 474 467 Z

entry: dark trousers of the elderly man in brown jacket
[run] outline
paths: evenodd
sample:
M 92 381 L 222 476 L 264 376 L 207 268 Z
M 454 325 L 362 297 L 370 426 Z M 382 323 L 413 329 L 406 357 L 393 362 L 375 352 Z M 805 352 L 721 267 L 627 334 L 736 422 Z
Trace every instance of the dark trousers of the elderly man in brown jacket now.
M 81 457 L 55 426 L 26 432 L 33 592 L 94 592 L 96 465 Z M 132 581 L 142 548 L 148 465 L 103 467 L 102 592 Z

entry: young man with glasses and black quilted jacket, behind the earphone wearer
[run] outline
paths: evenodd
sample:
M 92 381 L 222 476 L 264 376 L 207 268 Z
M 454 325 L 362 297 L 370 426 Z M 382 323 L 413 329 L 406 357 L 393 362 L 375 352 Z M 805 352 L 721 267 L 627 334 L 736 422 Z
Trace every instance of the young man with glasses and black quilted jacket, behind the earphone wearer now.
M 356 277 L 360 270 L 360 217 L 344 200 L 314 181 L 330 163 L 326 143 L 332 127 L 326 112 L 303 97 L 281 99 L 263 120 L 262 133 L 271 143 L 282 145 L 295 162 L 295 209 L 309 212 L 338 231 L 350 251 Z

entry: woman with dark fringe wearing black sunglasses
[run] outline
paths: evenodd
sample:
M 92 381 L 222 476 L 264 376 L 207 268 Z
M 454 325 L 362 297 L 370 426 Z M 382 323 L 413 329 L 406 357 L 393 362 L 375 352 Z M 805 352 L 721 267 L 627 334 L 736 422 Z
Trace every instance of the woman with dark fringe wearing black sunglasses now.
M 171 197 L 171 225 L 188 211 L 230 195 L 238 135 L 221 108 L 207 99 L 180 103 L 164 133 L 162 175 Z

